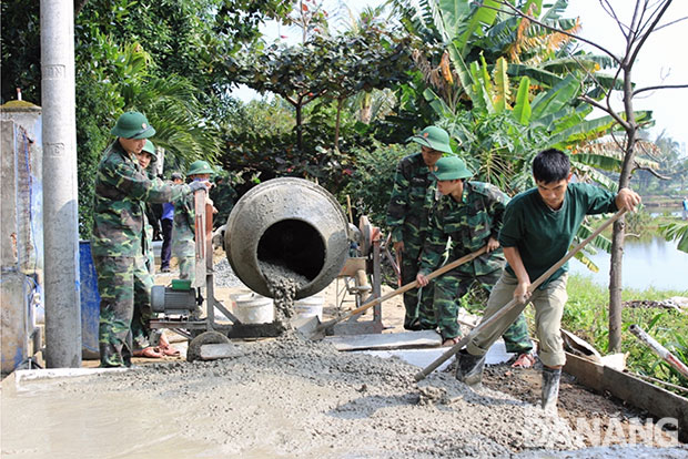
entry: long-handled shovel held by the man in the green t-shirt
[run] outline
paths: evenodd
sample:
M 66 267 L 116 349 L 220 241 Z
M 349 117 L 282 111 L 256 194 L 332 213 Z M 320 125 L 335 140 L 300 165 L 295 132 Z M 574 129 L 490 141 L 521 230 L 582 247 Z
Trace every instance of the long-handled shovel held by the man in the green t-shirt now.
M 619 220 L 626 212 L 627 212 L 626 208 L 623 208 L 619 212 L 617 212 L 611 218 L 606 221 L 599 228 L 595 230 L 595 232 L 593 234 L 590 234 L 588 237 L 586 237 L 585 241 L 583 241 L 580 244 L 578 244 L 577 246 L 571 248 L 566 255 L 564 255 L 564 258 L 559 259 L 554 266 L 552 266 L 549 269 L 547 269 L 545 272 L 545 274 L 539 276 L 533 284 L 530 284 L 530 286 L 528 287 L 528 292 L 533 293 L 542 283 L 547 280 L 549 278 L 549 276 L 552 276 L 558 268 L 564 266 L 564 264 L 566 262 L 568 262 L 570 258 L 573 258 L 578 252 L 580 252 L 580 249 L 583 247 L 588 245 L 588 243 L 590 241 L 593 241 L 595 237 L 597 237 L 603 231 L 605 231 L 614 222 Z M 453 355 L 458 353 L 465 345 L 467 345 L 471 341 L 471 339 L 473 339 L 473 337 L 475 337 L 477 334 L 479 334 L 484 328 L 486 328 L 486 327 L 490 326 L 492 324 L 494 324 L 495 322 L 499 320 L 503 316 L 506 315 L 506 313 L 508 313 L 509 310 L 512 310 L 513 308 L 515 308 L 516 306 L 518 306 L 520 304 L 522 303 L 519 303 L 518 300 L 512 299 L 509 303 L 504 305 L 502 307 L 502 309 L 497 310 L 493 316 L 490 316 L 488 319 L 482 322 L 477 327 L 475 327 L 473 330 L 471 330 L 471 333 L 468 335 L 464 336 L 458 343 L 456 343 L 454 346 L 452 346 L 446 353 L 444 353 L 443 355 L 437 357 L 437 359 L 435 359 L 435 361 L 429 364 L 423 370 L 416 373 L 415 376 L 414 376 L 414 379 L 416 381 L 419 381 L 421 379 L 425 379 L 425 377 L 427 375 L 433 373 L 435 369 L 437 369 L 437 367 L 439 367 L 442 364 L 444 364 L 445 360 L 449 359 Z

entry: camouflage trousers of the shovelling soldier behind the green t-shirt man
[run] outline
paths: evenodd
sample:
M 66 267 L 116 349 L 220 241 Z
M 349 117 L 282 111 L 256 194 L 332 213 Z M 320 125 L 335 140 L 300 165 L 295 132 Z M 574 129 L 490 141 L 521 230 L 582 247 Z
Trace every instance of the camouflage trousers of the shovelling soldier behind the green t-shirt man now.
M 461 336 L 461 329 L 456 322 L 461 298 L 468 289 L 477 284 L 488 294 L 492 287 L 499 280 L 502 269 L 484 275 L 472 275 L 453 269 L 435 279 L 434 315 L 431 318 L 422 317 L 421 320 L 428 324 L 435 323 L 442 334 L 442 339 Z M 528 335 L 528 324 L 523 314 L 502 335 L 507 353 L 523 354 L 533 349 L 533 343 Z

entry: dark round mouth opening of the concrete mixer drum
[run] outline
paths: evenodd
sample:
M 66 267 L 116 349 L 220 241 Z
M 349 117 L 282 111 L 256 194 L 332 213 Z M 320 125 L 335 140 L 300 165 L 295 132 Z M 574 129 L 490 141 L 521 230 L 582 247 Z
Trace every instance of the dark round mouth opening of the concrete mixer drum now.
M 271 225 L 261 236 L 257 259 L 313 280 L 325 264 L 325 243 L 308 223 L 283 220 Z

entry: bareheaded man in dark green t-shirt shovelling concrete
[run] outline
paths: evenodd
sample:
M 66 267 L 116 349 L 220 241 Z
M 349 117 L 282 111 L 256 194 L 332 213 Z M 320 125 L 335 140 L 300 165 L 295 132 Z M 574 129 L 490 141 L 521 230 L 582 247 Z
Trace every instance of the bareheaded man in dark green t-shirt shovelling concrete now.
M 593 185 L 570 183 L 568 156 L 558 150 L 546 150 L 535 157 L 533 177 L 537 187 L 516 195 L 506 206 L 499 244 L 508 264 L 489 295 L 483 322 L 512 299 L 518 300 L 519 306 L 483 329 L 462 349 L 456 378 L 469 386 L 479 384 L 487 349 L 526 304 L 533 303 L 538 354 L 544 365 L 542 407 L 549 410 L 556 407 L 561 367 L 566 363 L 559 328 L 567 299 L 568 266 L 557 269 L 532 294 L 528 287 L 566 255 L 586 215 L 619 208 L 634 211 L 640 196 L 629 188 L 614 195 Z

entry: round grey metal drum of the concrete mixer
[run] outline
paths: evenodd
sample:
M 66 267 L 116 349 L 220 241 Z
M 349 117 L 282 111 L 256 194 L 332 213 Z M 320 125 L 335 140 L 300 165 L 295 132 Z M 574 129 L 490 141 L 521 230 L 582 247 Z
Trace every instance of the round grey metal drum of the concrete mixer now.
M 242 196 L 225 227 L 227 259 L 252 290 L 272 294 L 261 265 L 279 265 L 307 282 L 295 298 L 314 295 L 342 271 L 348 255 L 348 224 L 325 188 L 303 178 L 274 178 Z

